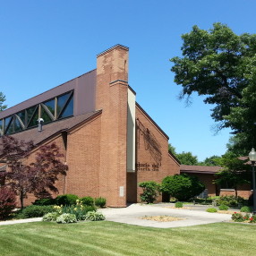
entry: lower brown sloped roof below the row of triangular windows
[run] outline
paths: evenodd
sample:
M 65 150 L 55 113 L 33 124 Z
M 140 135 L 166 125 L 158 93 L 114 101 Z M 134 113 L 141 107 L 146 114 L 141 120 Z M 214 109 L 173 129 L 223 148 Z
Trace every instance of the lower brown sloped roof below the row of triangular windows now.
M 35 127 L 23 132 L 14 133 L 11 136 L 18 140 L 33 141 L 35 145 L 38 145 L 39 143 L 46 141 L 60 132 L 69 131 L 75 126 L 89 121 L 91 118 L 100 113 L 101 110 L 98 110 L 83 115 L 65 118 L 50 124 L 44 124 L 42 132 L 38 132 L 38 127 Z

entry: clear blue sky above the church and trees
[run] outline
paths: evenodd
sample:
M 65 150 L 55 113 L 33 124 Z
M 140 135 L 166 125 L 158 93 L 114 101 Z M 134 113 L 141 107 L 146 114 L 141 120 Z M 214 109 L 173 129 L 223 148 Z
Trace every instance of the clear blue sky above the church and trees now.
M 194 95 L 191 107 L 177 99 L 169 59 L 195 24 L 255 33 L 255 10 L 255 0 L 0 0 L 0 91 L 12 107 L 95 69 L 98 53 L 122 44 L 138 103 L 176 151 L 220 156 L 230 131 L 214 135 L 203 98 Z

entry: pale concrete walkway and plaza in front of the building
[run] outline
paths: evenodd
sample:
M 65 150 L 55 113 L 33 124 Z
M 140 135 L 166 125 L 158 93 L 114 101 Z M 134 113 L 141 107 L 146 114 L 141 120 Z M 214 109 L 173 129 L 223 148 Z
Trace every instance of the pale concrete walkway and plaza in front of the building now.
M 195 226 L 201 224 L 209 224 L 216 222 L 229 221 L 230 214 L 209 213 L 206 212 L 210 206 L 186 206 L 185 209 L 172 208 L 172 204 L 153 204 L 145 205 L 140 203 L 132 204 L 126 208 L 107 208 L 98 209 L 109 221 L 137 225 L 151 226 L 160 228 L 178 227 L 178 226 Z M 172 222 L 159 222 L 154 220 L 141 219 L 150 216 L 171 216 L 175 218 L 183 218 Z M 1 221 L 1 225 L 12 225 L 18 223 L 38 222 L 42 218 L 27 218 Z

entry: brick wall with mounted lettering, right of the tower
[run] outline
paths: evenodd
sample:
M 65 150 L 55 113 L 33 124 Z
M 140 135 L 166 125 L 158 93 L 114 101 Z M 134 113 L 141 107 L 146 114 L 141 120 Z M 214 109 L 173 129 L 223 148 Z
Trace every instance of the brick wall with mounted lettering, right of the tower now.
M 137 186 L 137 201 L 140 201 L 140 193 L 142 191 L 138 187 L 138 183 L 145 181 L 161 183 L 167 175 L 179 174 L 180 166 L 175 158 L 168 154 L 168 138 L 166 135 L 158 129 L 149 116 L 138 106 L 136 106 L 136 119 L 137 180 L 135 181 L 134 174 L 128 174 L 128 181 L 130 181 L 133 190 L 135 185 Z M 133 198 L 132 192 L 130 198 Z M 161 196 L 159 196 L 158 201 L 161 201 L 161 199 Z

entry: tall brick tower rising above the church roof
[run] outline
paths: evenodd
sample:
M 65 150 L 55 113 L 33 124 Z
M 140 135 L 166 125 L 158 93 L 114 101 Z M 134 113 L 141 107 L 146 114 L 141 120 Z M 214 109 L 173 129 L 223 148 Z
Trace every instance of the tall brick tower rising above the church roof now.
M 126 206 L 128 47 L 97 56 L 96 109 L 102 109 L 99 195 L 111 207 Z

